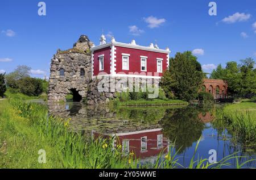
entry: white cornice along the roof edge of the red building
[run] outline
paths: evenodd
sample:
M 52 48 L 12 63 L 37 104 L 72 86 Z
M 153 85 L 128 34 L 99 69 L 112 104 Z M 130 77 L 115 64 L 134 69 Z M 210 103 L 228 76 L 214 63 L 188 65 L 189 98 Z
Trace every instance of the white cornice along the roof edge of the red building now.
M 125 48 L 133 48 L 133 49 L 141 49 L 141 50 L 146 50 L 146 51 L 152 51 L 152 52 L 162 52 L 162 53 L 170 53 L 171 51 L 167 51 L 164 49 L 155 49 L 155 48 L 150 48 L 150 47 L 145 47 L 141 45 L 132 45 L 132 44 L 126 44 L 126 43 L 119 43 L 119 42 L 111 42 L 108 44 L 103 44 L 103 45 L 97 45 L 96 47 L 90 48 L 91 51 L 95 51 L 98 49 L 106 48 L 109 46 L 119 46 L 119 47 L 125 47 Z

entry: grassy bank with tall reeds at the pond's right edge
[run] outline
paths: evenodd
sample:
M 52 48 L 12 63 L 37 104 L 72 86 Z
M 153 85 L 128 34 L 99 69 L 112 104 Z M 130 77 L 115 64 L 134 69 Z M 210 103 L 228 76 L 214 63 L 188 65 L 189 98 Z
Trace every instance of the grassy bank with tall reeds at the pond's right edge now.
M 216 121 L 228 129 L 233 140 L 256 149 L 256 103 L 228 104 L 216 110 Z

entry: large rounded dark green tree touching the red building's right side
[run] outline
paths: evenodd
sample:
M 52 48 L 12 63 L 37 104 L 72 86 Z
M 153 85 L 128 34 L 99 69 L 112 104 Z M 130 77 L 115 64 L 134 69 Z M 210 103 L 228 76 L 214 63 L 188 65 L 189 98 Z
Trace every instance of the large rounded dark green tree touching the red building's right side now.
M 197 57 L 190 51 L 176 53 L 170 58 L 170 68 L 163 73 L 160 86 L 168 98 L 174 93 L 175 97 L 191 101 L 203 84 L 204 73 Z

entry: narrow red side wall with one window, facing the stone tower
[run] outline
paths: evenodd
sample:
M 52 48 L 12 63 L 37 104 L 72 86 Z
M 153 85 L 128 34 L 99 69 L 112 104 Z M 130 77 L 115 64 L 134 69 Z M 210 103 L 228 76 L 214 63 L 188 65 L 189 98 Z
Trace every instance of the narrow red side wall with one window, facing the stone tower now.
M 97 76 L 99 73 L 99 58 L 98 56 L 104 55 L 104 70 L 101 72 L 105 72 L 110 74 L 110 47 L 102 48 L 99 50 L 94 51 L 93 53 L 93 76 Z

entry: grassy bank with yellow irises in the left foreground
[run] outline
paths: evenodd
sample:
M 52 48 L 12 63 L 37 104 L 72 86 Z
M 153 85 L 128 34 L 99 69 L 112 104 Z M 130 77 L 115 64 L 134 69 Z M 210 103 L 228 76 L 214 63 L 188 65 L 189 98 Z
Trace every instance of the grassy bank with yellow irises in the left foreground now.
M 113 147 L 113 139 L 92 139 L 70 132 L 68 126 L 69 119 L 48 116 L 42 104 L 0 101 L 0 168 L 184 168 L 173 145 L 167 154 L 159 154 L 154 165 L 141 165 L 133 152 L 125 156 L 121 145 Z M 46 164 L 38 162 L 40 149 L 46 152 Z M 186 168 L 221 168 L 230 158 L 238 157 L 208 164 L 207 159 L 193 156 Z

